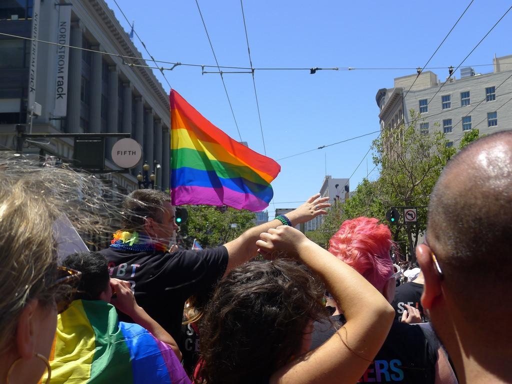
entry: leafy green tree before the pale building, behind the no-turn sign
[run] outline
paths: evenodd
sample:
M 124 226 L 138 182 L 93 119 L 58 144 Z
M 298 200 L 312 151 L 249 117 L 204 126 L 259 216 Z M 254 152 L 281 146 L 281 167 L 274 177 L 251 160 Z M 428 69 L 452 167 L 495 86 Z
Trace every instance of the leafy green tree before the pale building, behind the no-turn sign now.
M 390 225 L 393 240 L 400 246 L 401 254 L 410 254 L 423 233 L 426 225 L 426 206 L 430 193 L 446 162 L 455 154 L 454 147 L 448 147 L 448 140 L 442 132 L 430 135 L 420 134 L 417 124 L 421 117 L 414 111 L 409 126 L 399 125 L 395 129 L 383 130 L 374 142 L 373 163 L 380 169 L 376 181 L 364 179 L 339 211 L 331 210 L 319 231 L 334 233 L 342 221 L 359 216 L 375 217 L 383 223 L 390 207 L 419 206 L 418 223 Z M 400 210 L 403 215 L 403 211 Z M 337 227 L 333 230 L 336 223 Z M 414 241 L 413 241 L 414 235 Z

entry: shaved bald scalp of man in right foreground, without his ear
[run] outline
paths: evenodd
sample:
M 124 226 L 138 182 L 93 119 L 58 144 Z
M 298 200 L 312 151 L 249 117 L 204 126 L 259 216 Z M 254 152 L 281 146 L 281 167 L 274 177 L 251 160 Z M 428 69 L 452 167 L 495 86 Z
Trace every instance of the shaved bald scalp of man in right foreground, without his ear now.
M 510 279 L 512 131 L 471 143 L 444 168 L 427 239 L 451 288 L 471 292 Z

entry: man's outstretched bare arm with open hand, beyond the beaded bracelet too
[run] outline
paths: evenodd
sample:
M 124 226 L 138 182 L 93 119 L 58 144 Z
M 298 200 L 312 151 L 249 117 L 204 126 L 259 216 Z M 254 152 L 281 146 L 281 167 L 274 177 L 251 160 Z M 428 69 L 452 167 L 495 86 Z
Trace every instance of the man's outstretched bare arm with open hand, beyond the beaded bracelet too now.
M 287 213 L 286 217 L 290 219 L 292 225 L 297 225 L 306 223 L 318 215 L 326 215 L 327 211 L 325 208 L 331 206 L 330 203 L 327 203 L 328 200 L 329 197 L 321 198 L 320 194 L 311 196 L 300 207 Z M 268 223 L 246 230 L 240 237 L 225 244 L 224 246 L 229 253 L 229 261 L 224 276 L 234 267 L 254 258 L 258 254 L 256 241 L 260 238 L 260 233 L 266 232 L 270 228 L 276 228 L 279 225 L 283 225 L 283 223 L 278 219 L 274 219 Z

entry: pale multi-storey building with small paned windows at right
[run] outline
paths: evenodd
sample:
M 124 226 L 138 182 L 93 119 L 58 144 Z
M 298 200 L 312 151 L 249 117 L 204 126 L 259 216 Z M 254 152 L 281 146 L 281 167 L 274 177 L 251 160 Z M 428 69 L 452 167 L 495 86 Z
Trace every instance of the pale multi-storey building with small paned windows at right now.
M 512 55 L 495 57 L 492 73 L 462 68 L 461 77 L 440 81 L 431 71 L 397 77 L 394 88 L 378 90 L 380 129 L 411 123 L 411 110 L 420 114 L 421 134 L 442 131 L 448 145 L 457 145 L 464 132 L 480 134 L 512 129 Z

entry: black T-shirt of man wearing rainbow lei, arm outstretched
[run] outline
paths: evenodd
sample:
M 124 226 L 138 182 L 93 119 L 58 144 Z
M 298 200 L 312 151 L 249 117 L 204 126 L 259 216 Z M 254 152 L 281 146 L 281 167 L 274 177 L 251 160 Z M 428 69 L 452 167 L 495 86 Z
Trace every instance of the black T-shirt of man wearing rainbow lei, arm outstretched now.
M 188 297 L 212 289 L 226 271 L 226 247 L 174 253 L 134 252 L 107 248 L 112 278 L 129 281 L 137 304 L 176 340 L 180 336 L 183 307 Z M 130 317 L 120 313 L 121 321 Z

